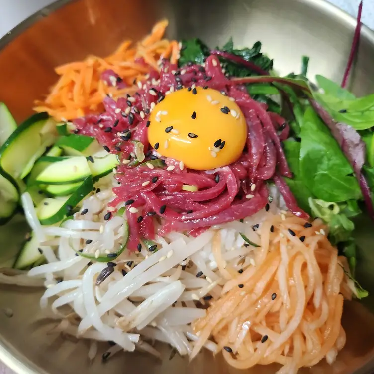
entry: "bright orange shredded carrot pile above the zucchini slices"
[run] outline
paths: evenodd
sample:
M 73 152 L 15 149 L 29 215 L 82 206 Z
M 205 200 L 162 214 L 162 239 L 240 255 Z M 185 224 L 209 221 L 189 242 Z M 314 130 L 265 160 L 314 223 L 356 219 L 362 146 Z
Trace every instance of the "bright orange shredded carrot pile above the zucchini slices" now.
M 134 79 L 143 80 L 151 69 L 159 71 L 160 59 L 170 58 L 172 63 L 178 61 L 178 42 L 162 39 L 167 26 L 167 20 L 156 23 L 151 34 L 135 46 L 132 47 L 132 41 L 126 40 L 105 58 L 88 56 L 84 61 L 58 66 L 55 72 L 60 76 L 59 80 L 44 101 L 35 102 L 34 110 L 46 111 L 58 121 L 66 121 L 100 112 L 102 100 L 107 94 L 114 98 L 133 94 L 136 91 Z M 143 58 L 147 66 L 138 63 L 139 58 Z M 118 74 L 128 87 L 118 90 L 106 85 L 101 74 L 109 69 Z

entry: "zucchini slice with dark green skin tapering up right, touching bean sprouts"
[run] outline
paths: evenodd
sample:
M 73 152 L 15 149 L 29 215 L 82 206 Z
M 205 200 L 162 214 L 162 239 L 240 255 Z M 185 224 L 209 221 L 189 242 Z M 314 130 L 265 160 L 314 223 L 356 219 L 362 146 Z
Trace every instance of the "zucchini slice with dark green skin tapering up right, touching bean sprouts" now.
M 62 221 L 94 189 L 91 175 L 76 191 L 66 197 L 46 198 L 36 208 L 36 214 L 42 225 L 53 225 Z

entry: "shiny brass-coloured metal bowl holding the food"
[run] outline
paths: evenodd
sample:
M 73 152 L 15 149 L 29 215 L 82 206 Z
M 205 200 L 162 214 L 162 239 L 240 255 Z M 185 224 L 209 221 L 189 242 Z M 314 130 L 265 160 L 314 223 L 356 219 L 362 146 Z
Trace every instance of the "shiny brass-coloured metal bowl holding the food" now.
M 238 45 L 261 40 L 280 74 L 299 71 L 301 56 L 308 55 L 310 77 L 319 73 L 337 81 L 355 27 L 350 16 L 320 0 L 159 0 L 157 4 L 152 0 L 62 0 L 0 41 L 0 101 L 9 105 L 18 120 L 25 118 L 31 113 L 32 101 L 55 81 L 54 66 L 89 53 L 105 55 L 124 38 L 136 40 L 146 34 L 161 17 L 170 20 L 170 37 L 199 36 L 213 46 L 222 45 L 231 35 Z M 35 20 L 38 22 L 33 24 Z M 364 27 L 352 85 L 356 94 L 374 91 L 373 58 L 374 35 Z M 363 220 L 357 226 L 358 277 L 374 295 L 373 225 Z M 24 232 L 25 225 L 19 221 L 0 228 L 1 260 L 11 261 Z M 166 346 L 161 347 L 165 353 L 162 362 L 134 353 L 116 355 L 105 364 L 100 357 L 90 363 L 87 342 L 50 334 L 53 321 L 40 320 L 41 292 L 0 287 L 0 359 L 19 374 L 236 373 L 219 355 L 213 358 L 206 352 L 190 364 L 178 355 L 169 360 Z M 13 310 L 12 318 L 5 317 L 4 308 Z M 365 306 L 347 303 L 344 327 L 348 342 L 337 362 L 332 367 L 323 362 L 300 373 L 372 373 L 374 316 L 369 310 L 373 310 L 373 296 Z M 270 374 L 277 368 L 257 367 L 246 373 Z

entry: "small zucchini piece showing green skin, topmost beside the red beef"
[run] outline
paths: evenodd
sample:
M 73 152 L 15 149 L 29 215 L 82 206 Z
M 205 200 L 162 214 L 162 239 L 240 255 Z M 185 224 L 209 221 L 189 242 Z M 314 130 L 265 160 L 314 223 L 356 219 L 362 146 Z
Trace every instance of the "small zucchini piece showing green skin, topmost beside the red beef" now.
M 69 156 L 89 156 L 100 149 L 95 138 L 76 134 L 62 136 L 55 145 L 61 147 Z

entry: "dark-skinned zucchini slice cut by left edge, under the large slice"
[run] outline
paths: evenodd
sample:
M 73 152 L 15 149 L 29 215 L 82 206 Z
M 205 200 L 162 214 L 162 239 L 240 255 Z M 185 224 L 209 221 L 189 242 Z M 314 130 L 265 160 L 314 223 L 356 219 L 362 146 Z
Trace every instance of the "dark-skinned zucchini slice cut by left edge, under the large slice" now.
M 14 214 L 19 201 L 19 190 L 14 179 L 0 169 L 0 224 Z

